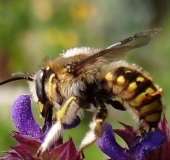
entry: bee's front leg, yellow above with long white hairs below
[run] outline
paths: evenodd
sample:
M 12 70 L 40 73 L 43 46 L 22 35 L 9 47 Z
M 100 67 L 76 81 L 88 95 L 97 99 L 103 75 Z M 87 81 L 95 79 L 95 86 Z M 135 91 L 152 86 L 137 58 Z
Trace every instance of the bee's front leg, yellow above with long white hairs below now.
M 57 122 L 51 127 L 47 133 L 44 142 L 41 144 L 40 148 L 37 151 L 36 158 L 38 159 L 43 152 L 45 152 L 54 142 L 56 142 L 63 135 L 63 123 L 66 122 L 66 114 L 69 111 L 69 108 L 72 107 L 72 102 L 77 100 L 76 97 L 70 97 L 66 103 L 61 107 L 59 111 L 56 112 Z M 72 108 L 71 108 L 72 109 Z M 76 108 L 77 109 L 77 108 Z M 75 115 L 70 117 L 70 121 L 75 118 Z

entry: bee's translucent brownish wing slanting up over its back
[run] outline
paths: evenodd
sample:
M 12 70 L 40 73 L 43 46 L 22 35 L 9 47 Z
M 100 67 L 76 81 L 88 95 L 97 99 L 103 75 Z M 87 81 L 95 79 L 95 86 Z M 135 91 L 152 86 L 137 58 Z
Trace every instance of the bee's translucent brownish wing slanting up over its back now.
M 151 37 L 157 34 L 160 30 L 161 28 L 157 28 L 148 30 L 146 32 L 137 33 L 129 38 L 117 42 L 106 49 L 101 50 L 82 60 L 80 63 L 74 66 L 74 70 L 80 69 L 81 66 L 84 66 L 85 64 L 94 63 L 97 58 L 102 56 L 107 58 L 108 61 L 120 60 L 128 51 L 147 45 L 151 40 Z

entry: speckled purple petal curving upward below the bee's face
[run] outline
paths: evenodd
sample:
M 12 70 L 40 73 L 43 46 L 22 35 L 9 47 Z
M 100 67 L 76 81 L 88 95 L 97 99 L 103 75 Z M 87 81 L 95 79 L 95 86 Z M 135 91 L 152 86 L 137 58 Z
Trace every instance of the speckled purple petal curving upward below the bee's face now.
M 41 128 L 32 115 L 30 98 L 30 95 L 20 95 L 15 100 L 12 105 L 12 120 L 21 134 L 43 140 Z

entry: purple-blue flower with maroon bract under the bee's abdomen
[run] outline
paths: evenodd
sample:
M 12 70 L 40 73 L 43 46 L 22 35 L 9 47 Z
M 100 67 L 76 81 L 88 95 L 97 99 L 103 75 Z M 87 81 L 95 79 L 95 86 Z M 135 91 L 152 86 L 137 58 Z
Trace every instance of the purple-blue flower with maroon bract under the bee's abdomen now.
M 160 122 L 160 124 L 164 121 L 165 118 L 162 122 Z M 164 145 L 167 145 L 166 143 L 168 141 L 170 143 L 169 134 L 167 134 L 168 137 L 165 138 L 164 132 L 160 131 L 159 129 L 155 130 L 154 132 L 149 132 L 146 134 L 144 139 L 140 141 L 140 137 L 134 135 L 133 128 L 131 126 L 125 125 L 123 123 L 121 124 L 125 127 L 125 130 L 113 131 L 112 126 L 105 123 L 103 136 L 97 140 L 97 145 L 100 150 L 108 155 L 112 160 L 151 160 L 149 157 L 153 155 L 153 152 L 155 152 L 156 149 L 163 148 Z M 124 139 L 128 145 L 128 149 L 121 147 L 116 142 L 114 132 Z M 169 151 L 167 151 L 166 156 L 169 154 L 169 157 L 160 154 L 160 151 L 155 152 L 157 155 L 160 154 L 159 157 L 157 157 L 157 160 L 161 159 L 161 157 L 166 157 L 164 160 L 169 160 L 170 146 L 168 150 Z

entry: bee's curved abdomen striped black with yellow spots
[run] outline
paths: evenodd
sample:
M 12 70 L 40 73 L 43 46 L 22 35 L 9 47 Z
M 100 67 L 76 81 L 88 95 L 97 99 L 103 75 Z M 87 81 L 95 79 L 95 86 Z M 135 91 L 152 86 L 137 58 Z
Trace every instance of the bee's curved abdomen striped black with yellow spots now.
M 157 127 L 161 119 L 161 89 L 137 67 L 124 66 L 110 69 L 104 77 L 104 88 L 120 101 L 133 117 L 137 117 L 139 129 Z

